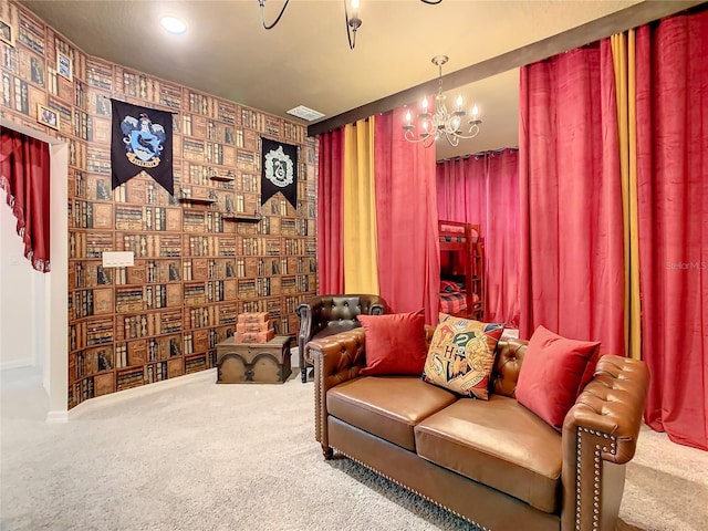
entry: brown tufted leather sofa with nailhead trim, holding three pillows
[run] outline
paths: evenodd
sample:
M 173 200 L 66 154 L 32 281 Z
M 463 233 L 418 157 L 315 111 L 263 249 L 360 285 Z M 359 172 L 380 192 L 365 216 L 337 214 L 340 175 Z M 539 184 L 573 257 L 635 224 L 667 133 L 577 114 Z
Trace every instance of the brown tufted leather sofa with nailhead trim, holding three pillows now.
M 309 344 L 315 433 L 333 450 L 485 531 L 614 529 L 648 386 L 643 362 L 603 356 L 560 434 L 514 398 L 527 342 L 501 340 L 489 402 L 409 376 L 358 376 L 365 332 Z

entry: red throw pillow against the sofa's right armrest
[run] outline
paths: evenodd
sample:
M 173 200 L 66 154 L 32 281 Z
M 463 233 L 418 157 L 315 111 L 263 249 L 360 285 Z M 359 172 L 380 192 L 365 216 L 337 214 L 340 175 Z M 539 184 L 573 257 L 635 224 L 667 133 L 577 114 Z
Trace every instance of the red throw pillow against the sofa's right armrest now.
M 561 431 L 565 415 L 587 383 L 586 369 L 589 365 L 594 368 L 598 352 L 598 341 L 569 340 L 539 326 L 523 356 L 517 400 Z

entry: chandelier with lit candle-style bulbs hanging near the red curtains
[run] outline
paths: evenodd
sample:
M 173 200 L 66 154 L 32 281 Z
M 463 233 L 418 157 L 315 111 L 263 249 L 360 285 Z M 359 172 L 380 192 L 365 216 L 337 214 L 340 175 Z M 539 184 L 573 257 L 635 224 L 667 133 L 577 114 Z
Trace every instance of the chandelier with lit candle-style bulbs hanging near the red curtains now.
M 460 139 L 475 138 L 479 134 L 479 126 L 482 121 L 479 119 L 479 111 L 477 105 L 472 107 L 471 117 L 467 122 L 469 131 L 462 133 L 460 126 L 465 117 L 462 111 L 462 95 L 457 96 L 456 107 L 454 112 L 448 112 L 445 105 L 445 94 L 442 94 L 442 65 L 447 63 L 447 55 L 436 55 L 433 58 L 433 64 L 438 67 L 438 93 L 435 96 L 435 114 L 428 113 L 428 98 L 423 100 L 423 112 L 418 114 L 418 125 L 412 123 L 410 111 L 406 113 L 406 123 L 403 126 L 404 137 L 408 142 L 423 143 L 425 147 L 430 147 L 435 142 L 444 136 L 451 146 L 457 146 Z M 419 133 L 416 137 L 415 129 Z

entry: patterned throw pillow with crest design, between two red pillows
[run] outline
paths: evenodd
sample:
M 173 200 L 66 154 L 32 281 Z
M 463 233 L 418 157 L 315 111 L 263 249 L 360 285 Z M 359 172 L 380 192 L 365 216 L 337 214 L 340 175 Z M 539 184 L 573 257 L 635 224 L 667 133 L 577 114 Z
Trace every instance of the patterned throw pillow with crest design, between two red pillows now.
M 489 375 L 503 324 L 440 313 L 423 379 L 462 396 L 489 399 Z

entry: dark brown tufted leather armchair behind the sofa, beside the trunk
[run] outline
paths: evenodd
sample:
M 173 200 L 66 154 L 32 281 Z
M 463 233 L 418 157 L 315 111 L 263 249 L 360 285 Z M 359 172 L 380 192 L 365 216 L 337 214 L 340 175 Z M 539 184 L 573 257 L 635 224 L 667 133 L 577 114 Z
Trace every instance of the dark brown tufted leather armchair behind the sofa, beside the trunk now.
M 357 315 L 383 315 L 386 313 L 386 301 L 371 294 L 319 295 L 300 304 L 296 312 L 300 316 L 300 374 L 305 383 L 308 367 L 312 367 L 312 361 L 305 352 L 308 343 L 361 326 Z

